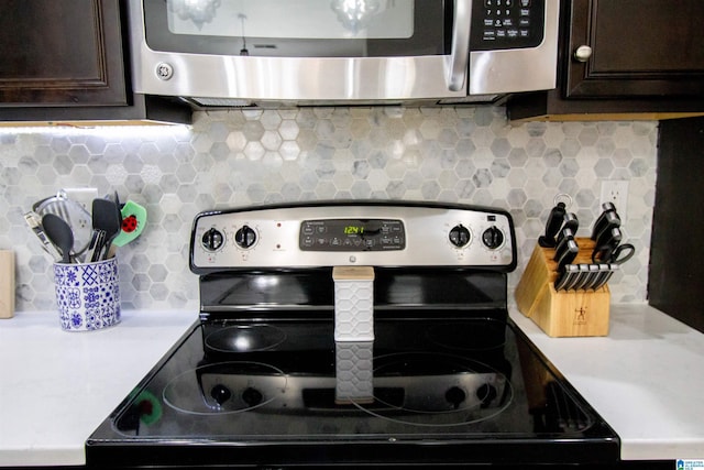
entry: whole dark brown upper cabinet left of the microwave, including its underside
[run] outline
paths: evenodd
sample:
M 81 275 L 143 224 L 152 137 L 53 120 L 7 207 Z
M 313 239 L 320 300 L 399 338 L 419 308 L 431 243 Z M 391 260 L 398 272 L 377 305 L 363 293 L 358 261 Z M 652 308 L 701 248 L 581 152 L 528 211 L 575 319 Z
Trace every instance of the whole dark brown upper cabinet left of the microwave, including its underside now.
M 0 1 L 0 124 L 190 121 L 131 90 L 120 0 Z

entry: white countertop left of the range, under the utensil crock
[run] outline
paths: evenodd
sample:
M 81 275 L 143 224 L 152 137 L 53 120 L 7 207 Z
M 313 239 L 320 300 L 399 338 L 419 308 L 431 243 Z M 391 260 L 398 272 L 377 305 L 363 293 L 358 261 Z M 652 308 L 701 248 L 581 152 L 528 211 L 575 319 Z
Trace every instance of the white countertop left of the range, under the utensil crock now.
M 196 319 L 122 311 L 87 332 L 62 330 L 56 311 L 0 320 L 0 466 L 85 464 L 88 436 Z

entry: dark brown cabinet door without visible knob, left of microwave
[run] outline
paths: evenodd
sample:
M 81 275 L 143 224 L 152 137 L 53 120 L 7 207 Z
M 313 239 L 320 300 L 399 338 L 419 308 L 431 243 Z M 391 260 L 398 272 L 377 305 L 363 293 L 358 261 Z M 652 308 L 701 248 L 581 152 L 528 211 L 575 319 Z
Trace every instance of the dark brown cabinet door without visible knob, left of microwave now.
M 119 0 L 2 0 L 2 107 L 128 105 Z

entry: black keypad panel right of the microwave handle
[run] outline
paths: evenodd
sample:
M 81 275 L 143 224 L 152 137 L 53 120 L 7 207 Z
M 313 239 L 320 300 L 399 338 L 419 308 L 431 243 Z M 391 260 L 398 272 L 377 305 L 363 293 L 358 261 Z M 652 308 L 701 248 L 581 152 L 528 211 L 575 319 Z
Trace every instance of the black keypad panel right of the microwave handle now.
M 479 0 L 472 3 L 472 51 L 538 46 L 544 35 L 546 0 Z

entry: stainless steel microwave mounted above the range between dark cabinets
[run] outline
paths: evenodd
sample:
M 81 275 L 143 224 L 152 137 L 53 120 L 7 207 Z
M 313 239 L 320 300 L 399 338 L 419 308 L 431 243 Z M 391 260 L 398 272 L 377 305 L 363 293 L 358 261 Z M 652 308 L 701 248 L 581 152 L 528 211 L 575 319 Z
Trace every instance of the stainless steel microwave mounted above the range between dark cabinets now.
M 136 92 L 198 106 L 554 88 L 559 0 L 129 0 Z

